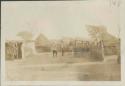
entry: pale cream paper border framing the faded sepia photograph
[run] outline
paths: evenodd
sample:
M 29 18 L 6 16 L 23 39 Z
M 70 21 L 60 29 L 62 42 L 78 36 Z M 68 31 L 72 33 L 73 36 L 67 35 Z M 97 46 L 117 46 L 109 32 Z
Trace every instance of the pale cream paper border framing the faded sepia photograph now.
M 2 0 L 4 1 L 25 1 L 25 0 Z M 27 0 L 27 1 L 66 1 L 66 0 Z M 67 0 L 67 1 L 82 1 L 82 0 Z M 5 85 L 22 85 L 22 86 L 124 86 L 125 85 L 125 2 L 122 0 L 120 7 L 120 26 L 121 26 L 121 81 L 5 81 L 5 39 L 2 33 L 1 24 L 1 86 Z M 2 19 L 2 18 L 1 18 Z

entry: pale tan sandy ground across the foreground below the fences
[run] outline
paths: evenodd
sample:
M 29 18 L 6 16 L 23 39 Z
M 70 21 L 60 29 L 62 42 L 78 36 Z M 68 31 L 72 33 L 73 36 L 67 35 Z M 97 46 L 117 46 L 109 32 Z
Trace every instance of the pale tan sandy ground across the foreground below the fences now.
M 120 64 L 117 56 L 106 56 L 103 62 L 92 57 L 74 57 L 71 54 L 53 57 L 50 53 L 30 55 L 20 60 L 6 61 L 7 80 L 30 81 L 117 81 Z

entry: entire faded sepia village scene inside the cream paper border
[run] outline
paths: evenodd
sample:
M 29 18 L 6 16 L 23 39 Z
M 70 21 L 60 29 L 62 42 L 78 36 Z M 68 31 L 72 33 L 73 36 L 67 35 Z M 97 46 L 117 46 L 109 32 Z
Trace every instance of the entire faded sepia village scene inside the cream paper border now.
M 120 4 L 2 1 L 5 81 L 121 81 Z

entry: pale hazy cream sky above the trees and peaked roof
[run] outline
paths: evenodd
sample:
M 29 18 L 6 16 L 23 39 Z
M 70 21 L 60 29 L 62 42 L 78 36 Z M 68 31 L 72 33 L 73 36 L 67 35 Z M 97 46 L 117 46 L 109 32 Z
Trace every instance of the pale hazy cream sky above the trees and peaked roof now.
M 49 39 L 88 38 L 85 25 L 104 25 L 118 35 L 118 9 L 109 0 L 2 2 L 2 31 L 6 39 L 26 30 Z

